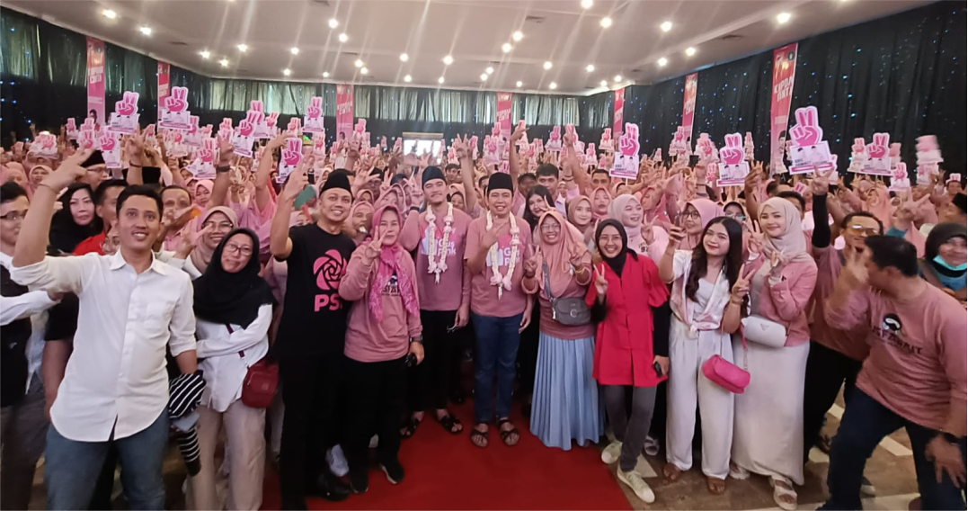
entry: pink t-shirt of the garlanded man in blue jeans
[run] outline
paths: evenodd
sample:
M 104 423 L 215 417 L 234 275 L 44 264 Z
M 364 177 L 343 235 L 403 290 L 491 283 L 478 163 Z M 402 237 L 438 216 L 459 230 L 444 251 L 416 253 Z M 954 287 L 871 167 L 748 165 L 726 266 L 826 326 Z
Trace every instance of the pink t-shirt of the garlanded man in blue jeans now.
M 525 274 L 525 259 L 531 257 L 531 228 L 528 222 L 516 216 L 511 217 L 521 233 L 518 235 L 520 244 L 518 245 L 518 257 L 514 264 L 514 273 L 511 275 L 511 289 L 502 292 L 498 299 L 498 286 L 491 285 L 491 277 L 494 273 L 491 270 L 491 258 L 486 259 L 484 271 L 470 275 L 470 310 L 474 314 L 481 316 L 492 316 L 506 318 L 521 314 L 525 311 L 525 305 L 529 298 L 521 289 L 521 278 Z M 507 273 L 508 263 L 511 260 L 511 234 L 507 228 L 498 240 L 498 270 L 501 275 Z M 481 239 L 487 231 L 487 215 L 470 222 L 468 229 L 468 245 L 464 252 L 464 258 L 470 259 L 480 248 Z

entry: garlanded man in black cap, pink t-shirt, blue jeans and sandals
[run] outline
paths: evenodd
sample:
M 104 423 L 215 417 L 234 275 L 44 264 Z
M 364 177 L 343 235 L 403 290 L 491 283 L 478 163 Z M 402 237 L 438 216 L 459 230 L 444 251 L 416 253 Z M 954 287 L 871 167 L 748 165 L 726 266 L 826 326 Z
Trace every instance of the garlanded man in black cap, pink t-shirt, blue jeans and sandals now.
M 514 387 L 515 361 L 521 332 L 531 320 L 531 301 L 521 288 L 524 261 L 531 257 L 531 230 L 511 214 L 514 201 L 511 176 L 497 173 L 487 187 L 488 212 L 470 222 L 465 252 L 470 272 L 470 313 L 477 335 L 473 431 L 478 447 L 488 445 L 488 424 L 498 419 L 501 440 L 518 443 L 521 435 L 508 420 Z M 534 276 L 533 272 L 529 276 Z M 495 371 L 498 406 L 491 406 Z

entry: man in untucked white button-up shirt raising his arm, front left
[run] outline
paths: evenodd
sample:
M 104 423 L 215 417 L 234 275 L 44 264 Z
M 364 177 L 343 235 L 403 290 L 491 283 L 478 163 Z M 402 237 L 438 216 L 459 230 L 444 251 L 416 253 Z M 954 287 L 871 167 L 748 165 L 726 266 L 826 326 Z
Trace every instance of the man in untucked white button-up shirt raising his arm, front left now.
M 166 349 L 183 373 L 197 369 L 193 290 L 189 276 L 157 261 L 162 200 L 150 186 L 126 188 L 117 202 L 120 249 L 111 256 L 45 258 L 57 193 L 84 176 L 66 159 L 45 177 L 21 226 L 14 280 L 32 288 L 76 293 L 80 310 L 47 431 L 47 507 L 84 509 L 108 448 L 122 467 L 131 509 L 162 509 L 168 419 Z

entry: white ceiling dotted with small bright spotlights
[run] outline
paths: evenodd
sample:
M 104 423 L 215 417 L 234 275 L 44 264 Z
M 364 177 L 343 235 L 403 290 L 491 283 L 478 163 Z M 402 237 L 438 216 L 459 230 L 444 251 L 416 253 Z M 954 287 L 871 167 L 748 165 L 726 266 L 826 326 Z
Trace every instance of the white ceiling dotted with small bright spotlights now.
M 200 74 L 488 90 L 589 94 L 650 83 L 774 48 L 804 37 L 888 16 L 928 0 L 5 0 L 6 7 Z M 115 19 L 102 15 L 105 9 Z M 786 24 L 775 16 L 792 15 Z M 602 28 L 605 16 L 614 20 Z M 340 25 L 331 29 L 330 18 Z M 662 32 L 659 25 L 672 21 Z M 139 27 L 149 26 L 150 36 Z M 521 30 L 524 39 L 511 36 Z M 341 44 L 338 36 L 348 35 Z M 731 36 L 724 40 L 726 36 Z M 739 36 L 739 37 L 733 37 Z M 249 46 L 242 53 L 236 45 Z M 509 53 L 501 45 L 511 43 Z M 290 48 L 299 48 L 293 55 Z M 687 57 L 684 49 L 697 49 Z M 199 51 L 212 52 L 208 60 Z M 400 54 L 407 52 L 408 62 Z M 441 61 L 452 55 L 454 63 Z M 659 57 L 668 58 L 664 67 Z M 226 58 L 228 67 L 219 60 Z M 369 70 L 354 66 L 361 59 Z M 546 71 L 545 61 L 553 67 Z M 593 64 L 595 70 L 586 71 Z M 481 74 L 489 66 L 494 74 Z M 289 69 L 285 77 L 283 70 Z M 328 72 L 329 79 L 322 77 Z M 558 87 L 550 89 L 552 82 Z

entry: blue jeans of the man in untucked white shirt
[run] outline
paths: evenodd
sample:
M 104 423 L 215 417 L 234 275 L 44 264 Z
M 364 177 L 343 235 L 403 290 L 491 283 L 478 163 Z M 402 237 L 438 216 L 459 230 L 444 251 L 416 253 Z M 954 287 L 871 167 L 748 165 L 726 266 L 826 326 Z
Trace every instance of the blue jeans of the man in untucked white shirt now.
M 121 484 L 131 509 L 164 509 L 162 462 L 168 445 L 168 414 L 148 428 L 119 440 L 81 442 L 47 430 L 44 483 L 47 509 L 87 509 L 111 444 L 121 461 Z

